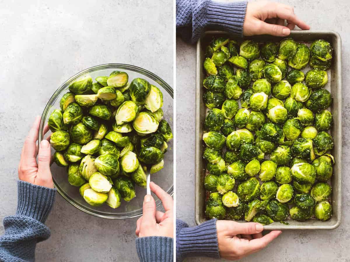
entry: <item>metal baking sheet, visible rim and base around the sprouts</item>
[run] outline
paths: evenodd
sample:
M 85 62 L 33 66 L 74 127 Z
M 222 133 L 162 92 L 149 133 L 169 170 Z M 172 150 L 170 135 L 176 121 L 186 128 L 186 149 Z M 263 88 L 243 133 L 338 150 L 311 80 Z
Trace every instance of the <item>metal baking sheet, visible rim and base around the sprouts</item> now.
M 229 36 L 226 32 L 221 31 L 208 31 L 197 42 L 197 57 L 196 57 L 196 130 L 195 130 L 195 142 L 196 142 L 196 157 L 195 157 L 195 220 L 197 224 L 201 224 L 206 221 L 204 214 L 205 211 L 205 199 L 206 191 L 203 185 L 204 176 L 206 174 L 206 163 L 203 159 L 204 144 L 202 141 L 202 135 L 204 130 L 204 120 L 207 113 L 207 108 L 203 103 L 203 78 L 205 77 L 203 71 L 203 61 L 205 59 L 205 47 L 211 41 L 213 36 Z M 289 225 L 282 224 L 280 222 L 274 222 L 265 226 L 267 230 L 286 230 L 286 229 L 335 229 L 341 222 L 341 176 L 342 176 L 342 71 L 341 71 L 341 38 L 340 35 L 334 31 L 302 31 L 293 30 L 288 36 L 296 41 L 303 43 L 310 43 L 316 39 L 325 39 L 329 41 L 333 48 L 332 66 L 327 70 L 328 83 L 324 87 L 333 96 L 333 102 L 330 111 L 333 115 L 334 125 L 330 130 L 331 135 L 334 138 L 334 148 L 331 154 L 335 158 L 334 174 L 331 178 L 332 195 L 331 203 L 333 209 L 333 215 L 330 220 L 322 222 L 316 219 L 310 219 L 304 222 L 298 222 L 288 217 L 287 223 Z M 240 38 L 231 37 L 233 40 L 242 41 Z M 261 35 L 251 36 L 245 39 L 252 39 L 257 42 L 280 42 L 283 38 Z M 310 67 L 304 68 L 302 71 L 305 73 Z M 237 221 L 245 222 L 245 221 Z

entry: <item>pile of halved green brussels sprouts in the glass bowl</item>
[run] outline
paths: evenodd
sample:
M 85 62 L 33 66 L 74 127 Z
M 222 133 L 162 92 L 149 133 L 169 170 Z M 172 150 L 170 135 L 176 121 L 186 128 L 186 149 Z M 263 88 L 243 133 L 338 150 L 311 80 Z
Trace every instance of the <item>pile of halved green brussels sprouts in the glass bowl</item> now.
M 135 185 L 146 188 L 147 169 L 164 167 L 173 134 L 158 87 L 143 78 L 129 82 L 119 70 L 95 80 L 85 74 L 70 83 L 48 118 L 50 143 L 81 197 L 116 209 L 135 198 Z

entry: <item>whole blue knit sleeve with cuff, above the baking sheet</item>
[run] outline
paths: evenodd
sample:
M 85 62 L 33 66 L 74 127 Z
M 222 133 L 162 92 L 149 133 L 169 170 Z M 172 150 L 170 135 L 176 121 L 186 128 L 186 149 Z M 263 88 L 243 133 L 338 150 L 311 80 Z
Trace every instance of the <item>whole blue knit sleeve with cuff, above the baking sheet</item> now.
M 195 43 L 205 30 L 243 36 L 247 1 L 176 0 L 176 34 Z

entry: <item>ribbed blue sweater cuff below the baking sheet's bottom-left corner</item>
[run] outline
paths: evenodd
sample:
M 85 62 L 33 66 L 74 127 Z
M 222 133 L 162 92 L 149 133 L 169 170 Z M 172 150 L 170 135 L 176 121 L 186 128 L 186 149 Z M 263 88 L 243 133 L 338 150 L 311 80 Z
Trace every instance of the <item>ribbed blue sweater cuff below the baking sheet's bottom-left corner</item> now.
M 220 257 L 216 219 L 205 221 L 197 227 L 182 228 L 176 241 L 176 246 L 179 248 L 181 257 Z

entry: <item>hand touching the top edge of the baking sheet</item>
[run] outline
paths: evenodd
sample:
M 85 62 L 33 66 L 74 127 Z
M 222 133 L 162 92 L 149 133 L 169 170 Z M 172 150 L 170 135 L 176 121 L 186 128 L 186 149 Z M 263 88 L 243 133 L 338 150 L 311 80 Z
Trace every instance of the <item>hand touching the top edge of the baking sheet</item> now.
M 287 26 L 285 26 L 285 20 Z M 292 6 L 270 1 L 248 2 L 247 4 L 243 35 L 287 36 L 295 26 L 304 30 L 310 29 L 310 26 L 297 18 Z

